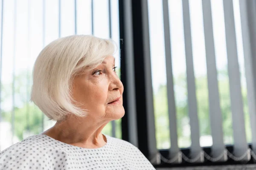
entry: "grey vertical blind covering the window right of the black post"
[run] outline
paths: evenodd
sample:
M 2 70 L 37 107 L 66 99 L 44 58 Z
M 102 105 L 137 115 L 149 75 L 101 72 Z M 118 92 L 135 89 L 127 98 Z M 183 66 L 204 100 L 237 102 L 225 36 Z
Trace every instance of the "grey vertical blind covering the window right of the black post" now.
M 169 149 L 169 158 L 157 153 L 151 162 L 256 158 L 256 2 L 148 0 L 142 10 L 148 11 L 154 91 L 152 150 Z M 185 147 L 189 156 L 180 151 Z

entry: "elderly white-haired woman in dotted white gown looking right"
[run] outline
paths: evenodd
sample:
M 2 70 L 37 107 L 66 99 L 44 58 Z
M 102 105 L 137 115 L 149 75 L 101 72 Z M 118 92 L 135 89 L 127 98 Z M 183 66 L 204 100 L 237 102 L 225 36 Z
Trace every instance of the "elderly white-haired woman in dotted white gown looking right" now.
M 31 100 L 56 124 L 0 153 L 0 170 L 154 170 L 134 145 L 103 135 L 122 118 L 114 44 L 89 35 L 60 38 L 36 59 Z

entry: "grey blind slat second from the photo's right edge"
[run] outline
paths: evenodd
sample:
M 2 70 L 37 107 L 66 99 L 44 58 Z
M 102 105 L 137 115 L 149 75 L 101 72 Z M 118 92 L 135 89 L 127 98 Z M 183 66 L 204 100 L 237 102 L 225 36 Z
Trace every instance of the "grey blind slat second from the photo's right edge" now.
M 241 156 L 247 152 L 248 146 L 244 127 L 244 108 L 241 94 L 239 62 L 236 49 L 236 31 L 233 12 L 233 1 L 224 0 L 224 20 L 227 43 L 227 66 L 230 84 L 230 101 L 233 120 L 234 154 Z M 245 160 L 250 159 L 250 156 Z

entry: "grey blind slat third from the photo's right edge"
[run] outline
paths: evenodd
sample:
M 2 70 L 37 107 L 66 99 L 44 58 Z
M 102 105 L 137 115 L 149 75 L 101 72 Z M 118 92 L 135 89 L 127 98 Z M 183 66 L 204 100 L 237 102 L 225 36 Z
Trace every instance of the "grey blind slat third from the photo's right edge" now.
M 204 38 L 207 62 L 207 81 L 209 93 L 209 116 L 212 132 L 212 156 L 217 157 L 224 152 L 221 107 L 218 91 L 217 68 L 212 27 L 211 1 L 203 0 Z M 221 160 L 226 161 L 227 155 Z M 220 161 L 221 161 L 220 160 Z

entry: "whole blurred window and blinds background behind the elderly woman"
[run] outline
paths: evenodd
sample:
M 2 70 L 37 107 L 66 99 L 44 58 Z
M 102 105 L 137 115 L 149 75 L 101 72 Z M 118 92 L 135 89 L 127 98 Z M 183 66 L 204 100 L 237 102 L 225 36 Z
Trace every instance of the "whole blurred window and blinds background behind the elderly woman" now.
M 141 6 L 137 7 L 137 3 Z M 151 162 L 158 167 L 189 163 L 179 153 L 193 159 L 197 154 L 186 154 L 184 150 L 200 153 L 201 148 L 212 146 L 220 146 L 213 149 L 221 148 L 217 152 L 221 154 L 224 146 L 246 145 L 245 150 L 242 147 L 233 153 L 242 156 L 248 144 L 256 142 L 251 124 L 256 123 L 256 110 L 248 106 L 248 99 L 255 101 L 254 91 L 250 92 L 252 97 L 248 96 L 248 87 L 254 89 L 255 73 L 250 61 L 255 58 L 255 45 L 244 46 L 246 42 L 253 42 L 250 40 L 253 37 L 246 33 L 250 35 L 250 30 L 255 31 L 256 27 L 248 6 L 252 6 L 255 14 L 254 0 L 1 0 L 0 150 L 55 123 L 29 101 L 33 64 L 39 52 L 58 37 L 93 34 L 117 43 L 114 57 L 118 75 L 127 93 L 133 94 L 124 96 L 128 114 L 123 118 L 125 121 L 110 122 L 103 133 L 132 142 L 148 159 L 154 159 Z M 242 9 L 244 11 L 240 11 Z M 143 21 L 141 25 L 137 25 L 136 16 Z M 242 20 L 243 16 L 247 21 Z M 246 25 L 250 22 L 254 25 Z M 136 32 L 137 28 L 141 34 Z M 137 43 L 142 47 L 140 51 L 144 51 L 139 58 Z M 249 48 L 251 54 L 246 54 L 244 49 Z M 138 68 L 138 64 L 145 70 Z M 136 85 L 139 72 L 145 81 L 149 79 L 150 85 L 142 84 L 143 88 Z M 138 100 L 139 88 L 145 89 L 145 107 L 140 106 Z M 143 113 L 139 112 L 140 107 Z M 138 114 L 144 116 L 145 124 L 141 124 L 143 118 Z M 218 122 L 218 126 L 213 125 L 214 122 Z M 144 125 L 148 130 L 141 130 Z M 219 125 L 221 131 L 214 130 Z M 241 132 L 236 131 L 234 125 Z M 131 134 L 134 132 L 131 126 L 135 134 Z M 140 134 L 145 132 L 145 140 L 140 140 Z M 215 143 L 213 133 L 215 138 L 221 136 Z M 234 137 L 234 133 L 240 136 Z M 151 142 L 146 148 L 142 147 L 147 141 Z M 166 159 L 160 160 L 163 157 L 160 155 L 165 154 Z M 177 160 L 168 162 L 167 159 L 175 157 Z M 227 161 L 224 157 L 220 160 Z M 204 156 L 200 158 L 193 162 L 204 163 Z

